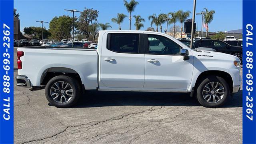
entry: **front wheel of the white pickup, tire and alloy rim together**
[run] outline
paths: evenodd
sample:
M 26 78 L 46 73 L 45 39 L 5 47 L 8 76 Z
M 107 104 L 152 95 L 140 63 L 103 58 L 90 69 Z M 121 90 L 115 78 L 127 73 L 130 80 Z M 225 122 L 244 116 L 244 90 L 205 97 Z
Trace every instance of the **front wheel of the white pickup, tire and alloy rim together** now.
M 223 105 L 229 98 L 230 88 L 223 78 L 207 76 L 199 82 L 196 99 L 202 106 L 216 108 Z

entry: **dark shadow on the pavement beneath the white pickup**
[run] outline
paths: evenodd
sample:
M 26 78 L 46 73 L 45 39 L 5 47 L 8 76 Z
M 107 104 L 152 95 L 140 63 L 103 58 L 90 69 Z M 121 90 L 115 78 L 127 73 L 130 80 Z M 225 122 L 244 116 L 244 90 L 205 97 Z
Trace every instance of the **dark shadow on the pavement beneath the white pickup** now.
M 186 93 L 169 92 L 108 92 L 90 90 L 73 108 L 102 106 L 200 106 Z M 234 94 L 221 108 L 242 107 L 242 90 Z

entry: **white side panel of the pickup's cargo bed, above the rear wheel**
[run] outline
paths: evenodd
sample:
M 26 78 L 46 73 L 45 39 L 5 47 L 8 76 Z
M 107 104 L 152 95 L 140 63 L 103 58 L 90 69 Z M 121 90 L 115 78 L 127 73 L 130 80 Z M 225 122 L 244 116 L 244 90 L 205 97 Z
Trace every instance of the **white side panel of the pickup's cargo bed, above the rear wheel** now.
M 46 72 L 66 70 L 78 73 L 82 82 L 86 81 L 87 89 L 98 86 L 98 54 L 95 49 L 38 46 L 17 50 L 24 52 L 18 74 L 28 77 L 31 86 L 40 86 Z

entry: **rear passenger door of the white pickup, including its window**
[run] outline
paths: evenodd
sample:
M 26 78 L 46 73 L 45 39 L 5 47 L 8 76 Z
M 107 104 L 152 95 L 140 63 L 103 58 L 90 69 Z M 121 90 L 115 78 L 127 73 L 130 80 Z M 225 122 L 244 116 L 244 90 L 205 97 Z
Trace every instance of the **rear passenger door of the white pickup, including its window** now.
M 100 80 L 111 88 L 143 88 L 145 55 L 143 34 L 108 34 L 100 57 Z

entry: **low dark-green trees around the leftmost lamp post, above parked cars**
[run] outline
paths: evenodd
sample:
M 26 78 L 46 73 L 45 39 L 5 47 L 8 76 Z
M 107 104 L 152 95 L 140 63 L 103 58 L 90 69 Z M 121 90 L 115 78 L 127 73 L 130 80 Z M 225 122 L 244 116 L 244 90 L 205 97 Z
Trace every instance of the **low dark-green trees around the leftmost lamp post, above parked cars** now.
M 35 27 L 35 26 L 25 27 L 23 29 L 23 32 L 27 35 L 32 36 L 33 39 L 40 40 L 42 38 L 42 27 Z M 51 36 L 51 33 L 45 28 L 43 28 L 43 37 L 48 38 L 49 36 Z

